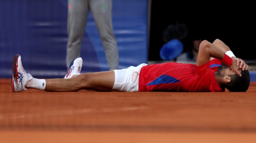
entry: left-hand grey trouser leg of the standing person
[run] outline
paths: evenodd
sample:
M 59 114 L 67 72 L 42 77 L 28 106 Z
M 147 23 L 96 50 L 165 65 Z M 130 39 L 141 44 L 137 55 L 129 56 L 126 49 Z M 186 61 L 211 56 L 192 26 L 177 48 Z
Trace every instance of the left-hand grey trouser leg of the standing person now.
M 88 0 L 69 0 L 67 20 L 67 32 L 69 38 L 66 55 L 67 68 L 69 68 L 69 64 L 74 58 L 80 56 L 81 43 L 87 24 L 88 14 Z

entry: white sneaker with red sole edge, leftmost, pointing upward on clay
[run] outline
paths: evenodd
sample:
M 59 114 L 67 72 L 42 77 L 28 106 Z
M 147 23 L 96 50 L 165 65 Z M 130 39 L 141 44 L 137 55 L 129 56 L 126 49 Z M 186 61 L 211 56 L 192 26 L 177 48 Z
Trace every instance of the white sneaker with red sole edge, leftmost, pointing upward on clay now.
M 13 58 L 13 75 L 11 78 L 11 89 L 13 92 L 26 91 L 26 83 L 32 80 L 32 75 L 26 73 L 22 67 L 21 56 L 16 54 Z

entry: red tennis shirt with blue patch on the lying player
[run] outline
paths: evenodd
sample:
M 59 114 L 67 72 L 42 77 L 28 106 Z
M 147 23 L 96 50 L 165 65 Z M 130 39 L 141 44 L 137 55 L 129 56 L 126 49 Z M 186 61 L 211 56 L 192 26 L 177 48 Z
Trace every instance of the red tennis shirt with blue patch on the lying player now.
M 146 65 L 139 73 L 139 91 L 224 92 L 214 75 L 221 65 L 218 59 L 198 67 L 176 62 Z

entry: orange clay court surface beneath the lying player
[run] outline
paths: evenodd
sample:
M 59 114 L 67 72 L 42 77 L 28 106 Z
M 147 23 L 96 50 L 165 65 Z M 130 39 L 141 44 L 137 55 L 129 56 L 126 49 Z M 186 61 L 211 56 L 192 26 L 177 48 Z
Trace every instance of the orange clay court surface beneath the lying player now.
M 247 92 L 12 92 L 0 80 L 0 143 L 256 143 Z

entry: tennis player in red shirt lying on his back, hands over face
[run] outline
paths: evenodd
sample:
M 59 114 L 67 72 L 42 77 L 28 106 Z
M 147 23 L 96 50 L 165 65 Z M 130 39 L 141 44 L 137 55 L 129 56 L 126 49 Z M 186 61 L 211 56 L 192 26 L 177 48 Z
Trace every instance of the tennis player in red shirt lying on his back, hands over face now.
M 222 64 L 226 66 L 222 66 Z M 26 73 L 19 54 L 13 59 L 13 92 L 39 89 L 51 92 L 90 91 L 163 91 L 163 92 L 245 92 L 249 88 L 248 65 L 236 58 L 221 40 L 200 43 L 197 64 L 142 63 L 137 67 L 80 74 L 82 58 L 70 63 L 61 79 L 36 79 Z

